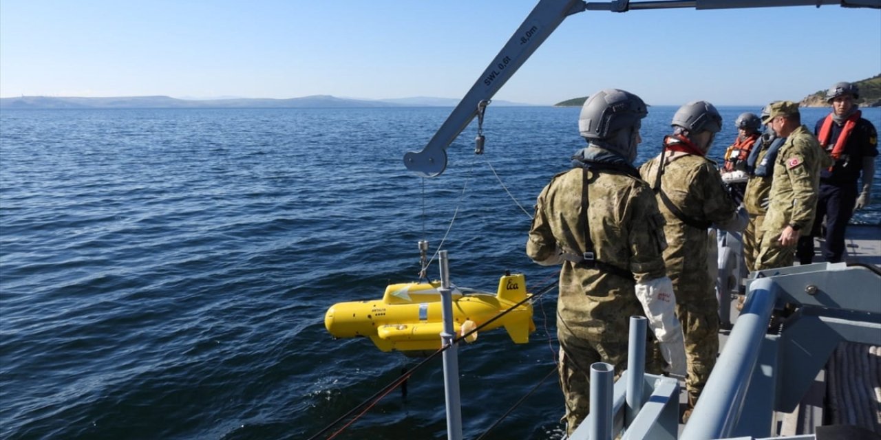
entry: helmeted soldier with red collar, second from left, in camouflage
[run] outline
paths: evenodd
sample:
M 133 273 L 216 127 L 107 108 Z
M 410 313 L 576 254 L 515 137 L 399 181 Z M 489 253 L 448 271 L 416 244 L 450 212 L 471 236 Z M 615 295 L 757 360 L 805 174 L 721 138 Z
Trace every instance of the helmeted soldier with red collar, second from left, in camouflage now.
M 667 275 L 677 297 L 677 317 L 685 332 L 688 357 L 687 420 L 700 391 L 707 384 L 719 352 L 719 301 L 707 270 L 710 246 L 707 228 L 742 231 L 746 212 L 737 209 L 707 151 L 722 129 L 722 116 L 706 101 L 679 108 L 670 124 L 673 135 L 664 137 L 663 151 L 640 167 L 642 178 L 654 182 L 658 205 L 666 221 L 664 250 Z

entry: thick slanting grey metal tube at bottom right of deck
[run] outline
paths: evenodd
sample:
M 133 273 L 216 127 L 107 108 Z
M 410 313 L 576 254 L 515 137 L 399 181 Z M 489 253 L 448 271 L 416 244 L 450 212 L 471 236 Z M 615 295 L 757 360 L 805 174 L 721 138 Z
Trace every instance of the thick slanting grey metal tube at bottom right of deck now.
M 737 317 L 725 348 L 716 361 L 698 405 L 682 431 L 683 440 L 731 435 L 744 407 L 746 390 L 759 361 L 768 320 L 780 286 L 770 278 L 751 282 L 744 310 Z

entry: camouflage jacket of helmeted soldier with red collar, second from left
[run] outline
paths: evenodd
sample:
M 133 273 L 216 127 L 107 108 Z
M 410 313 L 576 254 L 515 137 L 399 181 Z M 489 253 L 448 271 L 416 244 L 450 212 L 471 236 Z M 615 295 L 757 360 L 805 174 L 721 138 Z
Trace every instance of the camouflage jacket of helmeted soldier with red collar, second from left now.
M 660 160 L 660 156 L 653 158 L 640 167 L 643 179 L 655 181 Z M 729 223 L 737 216 L 737 203 L 725 190 L 719 171 L 709 159 L 668 152 L 665 162 L 667 165 L 664 166 L 657 198 L 667 223 L 664 235 L 668 246 L 663 252 L 664 262 L 679 303 L 694 295 L 706 295 L 712 289 L 714 280 L 707 268 L 707 227 L 709 224 Z M 707 225 L 699 228 L 685 224 L 668 208 L 663 197 L 667 197 L 669 203 L 690 222 Z

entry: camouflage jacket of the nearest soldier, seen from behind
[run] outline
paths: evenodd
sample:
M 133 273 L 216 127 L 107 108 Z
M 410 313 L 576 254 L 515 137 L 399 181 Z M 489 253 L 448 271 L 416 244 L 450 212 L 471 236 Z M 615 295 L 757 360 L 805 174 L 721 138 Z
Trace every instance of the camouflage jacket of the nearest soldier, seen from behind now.
M 537 262 L 560 252 L 581 254 L 585 228 L 597 260 L 630 271 L 637 282 L 665 275 L 663 216 L 642 180 L 583 168 L 557 174 L 538 195 L 526 253 Z M 629 317 L 643 315 L 633 278 L 569 260 L 562 264 L 557 309 L 570 333 L 593 340 L 605 332 L 626 334 Z

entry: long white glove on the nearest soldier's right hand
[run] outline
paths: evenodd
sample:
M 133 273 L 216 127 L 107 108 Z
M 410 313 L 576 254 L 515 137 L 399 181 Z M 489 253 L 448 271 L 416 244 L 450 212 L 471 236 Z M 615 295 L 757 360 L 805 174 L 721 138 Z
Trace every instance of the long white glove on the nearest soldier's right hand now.
M 685 376 L 685 338 L 676 317 L 676 295 L 669 277 L 637 282 L 636 297 L 648 318 L 648 326 L 661 343 L 661 354 L 670 374 Z

